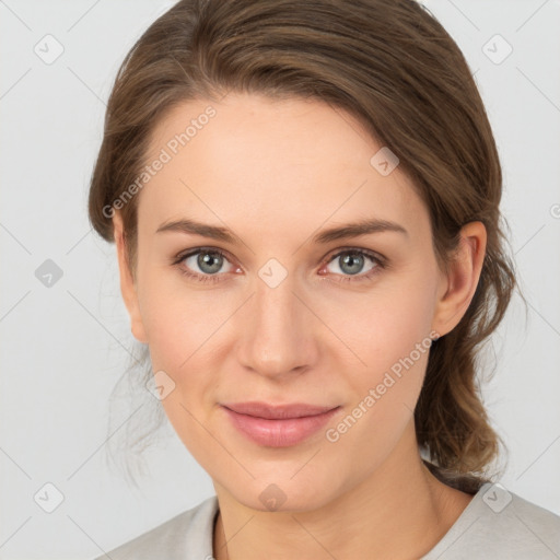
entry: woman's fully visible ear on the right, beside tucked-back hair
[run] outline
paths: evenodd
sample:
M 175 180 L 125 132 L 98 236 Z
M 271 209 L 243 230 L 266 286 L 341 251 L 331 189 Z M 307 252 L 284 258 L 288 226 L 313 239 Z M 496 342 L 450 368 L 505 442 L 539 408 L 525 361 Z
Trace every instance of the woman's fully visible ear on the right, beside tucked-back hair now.
M 486 255 L 487 233 L 482 222 L 469 222 L 460 230 L 460 242 L 447 273 L 442 272 L 432 322 L 442 337 L 465 315 L 478 285 Z

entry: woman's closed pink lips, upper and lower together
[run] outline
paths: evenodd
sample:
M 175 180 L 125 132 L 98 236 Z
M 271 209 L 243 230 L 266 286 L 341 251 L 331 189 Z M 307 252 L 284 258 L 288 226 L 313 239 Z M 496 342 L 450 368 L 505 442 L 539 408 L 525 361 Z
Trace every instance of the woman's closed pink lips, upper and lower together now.
M 222 404 L 233 425 L 253 442 L 268 447 L 298 445 L 320 430 L 340 408 L 294 402 Z

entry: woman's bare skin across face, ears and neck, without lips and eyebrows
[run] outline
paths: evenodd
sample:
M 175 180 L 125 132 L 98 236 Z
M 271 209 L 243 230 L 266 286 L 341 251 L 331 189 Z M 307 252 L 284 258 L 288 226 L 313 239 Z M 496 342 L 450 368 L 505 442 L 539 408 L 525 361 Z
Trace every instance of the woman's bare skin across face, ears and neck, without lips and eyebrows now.
M 415 345 L 458 324 L 480 276 L 485 226 L 463 228 L 443 273 L 410 180 L 398 166 L 382 176 L 370 164 L 381 145 L 349 114 L 318 101 L 230 94 L 184 103 L 159 122 L 147 161 L 209 104 L 215 117 L 137 195 L 136 275 L 118 212 L 114 228 L 132 334 L 149 345 L 153 371 L 174 381 L 162 404 L 218 495 L 214 557 L 419 558 L 471 499 L 420 459 L 412 410 L 428 352 L 336 442 L 325 429 L 290 447 L 257 445 L 219 402 L 339 405 L 327 428 L 338 425 Z M 182 218 L 226 225 L 241 241 L 156 233 Z M 311 242 L 364 218 L 397 222 L 408 235 Z M 172 264 L 197 247 L 226 253 L 217 282 L 180 273 L 212 276 L 197 256 Z M 357 280 L 377 265 L 364 257 L 351 275 L 336 257 L 341 248 L 370 249 L 389 266 Z M 258 276 L 270 258 L 288 273 L 276 288 Z M 259 499 L 271 483 L 285 499 L 277 511 Z

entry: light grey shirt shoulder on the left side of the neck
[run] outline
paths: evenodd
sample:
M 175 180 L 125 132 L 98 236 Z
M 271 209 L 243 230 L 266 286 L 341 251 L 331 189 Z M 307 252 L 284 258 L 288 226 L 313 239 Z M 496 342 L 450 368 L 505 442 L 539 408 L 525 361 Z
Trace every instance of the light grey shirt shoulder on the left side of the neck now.
M 213 495 L 95 560 L 211 558 L 217 512 L 218 499 Z

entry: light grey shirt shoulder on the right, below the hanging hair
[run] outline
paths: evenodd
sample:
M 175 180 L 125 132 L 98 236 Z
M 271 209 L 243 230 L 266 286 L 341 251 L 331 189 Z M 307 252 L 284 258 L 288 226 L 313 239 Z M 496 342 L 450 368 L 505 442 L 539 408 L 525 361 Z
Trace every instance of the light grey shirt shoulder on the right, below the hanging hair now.
M 424 560 L 560 558 L 560 517 L 508 491 L 486 483 Z

